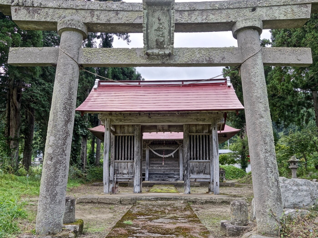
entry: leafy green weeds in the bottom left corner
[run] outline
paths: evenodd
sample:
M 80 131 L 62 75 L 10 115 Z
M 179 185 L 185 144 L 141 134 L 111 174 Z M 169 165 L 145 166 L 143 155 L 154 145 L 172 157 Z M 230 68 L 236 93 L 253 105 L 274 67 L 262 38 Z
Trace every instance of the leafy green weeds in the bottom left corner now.
M 18 219 L 26 218 L 24 203 L 17 199 L 0 197 L 0 237 L 9 237 L 19 231 Z

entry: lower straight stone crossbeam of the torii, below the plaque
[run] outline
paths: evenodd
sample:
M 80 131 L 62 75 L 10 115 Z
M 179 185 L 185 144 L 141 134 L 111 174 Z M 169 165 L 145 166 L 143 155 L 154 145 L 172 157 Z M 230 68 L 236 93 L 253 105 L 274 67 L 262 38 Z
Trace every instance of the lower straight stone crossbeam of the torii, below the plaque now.
M 310 48 L 263 47 L 265 66 L 309 66 L 312 64 Z M 107 55 L 107 57 L 105 57 Z M 57 63 L 59 49 L 10 48 L 8 63 L 14 66 L 51 66 Z M 84 67 L 177 67 L 177 66 L 239 66 L 245 60 L 237 47 L 174 48 L 173 57 L 149 60 L 142 48 L 82 48 L 79 64 Z

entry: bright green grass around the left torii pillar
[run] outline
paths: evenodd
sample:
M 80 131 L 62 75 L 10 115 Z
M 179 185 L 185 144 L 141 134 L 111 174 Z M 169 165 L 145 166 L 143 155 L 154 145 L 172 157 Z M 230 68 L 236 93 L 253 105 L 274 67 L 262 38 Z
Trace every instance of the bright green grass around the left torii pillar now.
M 67 188 L 77 187 L 81 180 L 70 179 Z M 25 209 L 27 202 L 22 198 L 38 196 L 40 179 L 13 174 L 1 174 L 0 178 L 0 238 L 14 237 L 25 223 L 34 221 L 36 216 Z M 34 204 L 29 204 L 34 205 Z

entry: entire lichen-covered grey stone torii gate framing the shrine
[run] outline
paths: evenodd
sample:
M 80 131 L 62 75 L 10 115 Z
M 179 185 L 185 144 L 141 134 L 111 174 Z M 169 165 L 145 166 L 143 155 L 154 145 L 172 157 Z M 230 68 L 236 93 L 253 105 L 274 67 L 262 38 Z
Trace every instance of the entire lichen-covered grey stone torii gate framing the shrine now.
M 301 27 L 318 0 L 174 3 L 1 0 L 0 10 L 25 30 L 58 30 L 59 48 L 12 48 L 9 64 L 57 65 L 45 144 L 37 234 L 60 232 L 78 86 L 83 67 L 240 66 L 258 232 L 277 235 L 282 202 L 264 65 L 309 66 L 307 48 L 260 48 L 262 29 Z M 151 19 L 151 21 L 149 21 Z M 174 32 L 232 31 L 238 47 L 173 48 Z M 87 32 L 143 32 L 144 48 L 81 48 Z

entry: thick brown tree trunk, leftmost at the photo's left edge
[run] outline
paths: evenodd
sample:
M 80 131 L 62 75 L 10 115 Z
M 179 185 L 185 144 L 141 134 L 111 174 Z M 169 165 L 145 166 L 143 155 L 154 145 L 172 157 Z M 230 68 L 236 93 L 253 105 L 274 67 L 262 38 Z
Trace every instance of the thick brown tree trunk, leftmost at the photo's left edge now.
M 11 165 L 17 168 L 19 163 L 22 80 L 10 79 L 8 86 L 5 136 L 11 151 L 9 154 L 9 157 L 12 158 Z

